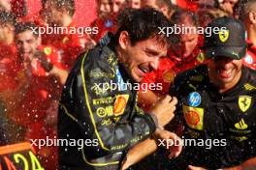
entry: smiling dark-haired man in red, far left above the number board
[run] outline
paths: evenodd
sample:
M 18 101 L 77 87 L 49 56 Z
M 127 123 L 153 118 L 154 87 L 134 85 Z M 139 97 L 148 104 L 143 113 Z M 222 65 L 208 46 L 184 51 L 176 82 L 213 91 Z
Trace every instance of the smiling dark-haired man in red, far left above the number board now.
M 35 27 L 36 25 L 30 22 L 16 25 L 19 66 L 30 74 L 21 96 L 13 94 L 16 97 L 16 107 L 8 113 L 8 118 L 24 129 L 20 141 L 46 139 L 47 136 L 53 139 L 57 135 L 57 111 L 52 112 L 51 107 L 57 108 L 62 86 L 68 75 L 58 63 L 56 49 L 41 45 L 41 38 L 32 31 Z M 24 77 L 22 74 L 19 76 Z M 8 101 L 12 103 L 12 100 Z M 56 169 L 56 147 L 35 149 L 47 169 Z M 48 157 L 51 157 L 50 161 Z

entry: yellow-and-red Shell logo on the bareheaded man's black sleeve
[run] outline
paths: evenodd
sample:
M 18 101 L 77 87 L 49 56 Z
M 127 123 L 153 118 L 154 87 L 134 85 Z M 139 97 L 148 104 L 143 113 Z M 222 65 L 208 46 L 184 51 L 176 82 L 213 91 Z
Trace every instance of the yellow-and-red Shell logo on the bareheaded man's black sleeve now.
M 113 104 L 113 115 L 118 116 L 124 113 L 129 95 L 117 95 Z

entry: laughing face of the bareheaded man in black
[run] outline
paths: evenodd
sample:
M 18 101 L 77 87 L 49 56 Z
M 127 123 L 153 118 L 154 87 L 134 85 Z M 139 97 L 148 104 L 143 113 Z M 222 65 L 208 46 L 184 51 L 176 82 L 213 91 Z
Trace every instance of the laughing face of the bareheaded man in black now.
M 168 45 L 157 41 L 157 37 L 131 44 L 124 31 L 119 38 L 117 54 L 128 74 L 140 82 L 147 72 L 158 68 L 159 59 L 167 55 L 167 49 Z

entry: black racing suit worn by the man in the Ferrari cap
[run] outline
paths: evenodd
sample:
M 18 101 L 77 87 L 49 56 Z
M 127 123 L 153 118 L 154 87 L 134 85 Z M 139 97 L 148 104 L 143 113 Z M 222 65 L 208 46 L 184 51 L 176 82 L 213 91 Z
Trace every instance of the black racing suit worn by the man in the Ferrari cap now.
M 186 143 L 161 169 L 232 167 L 256 156 L 256 71 L 242 68 L 238 84 L 220 94 L 203 65 L 177 75 L 170 94 L 179 100 L 175 121 Z

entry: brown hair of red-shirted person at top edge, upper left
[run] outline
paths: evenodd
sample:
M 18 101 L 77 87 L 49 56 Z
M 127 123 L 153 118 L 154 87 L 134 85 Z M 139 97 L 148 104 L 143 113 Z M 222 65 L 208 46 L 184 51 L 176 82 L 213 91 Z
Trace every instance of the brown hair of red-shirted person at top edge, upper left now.
M 65 9 L 70 16 L 76 11 L 75 0 L 51 0 L 57 10 Z

